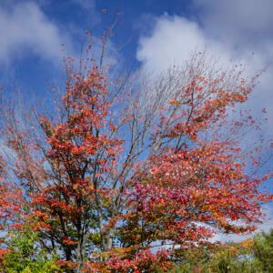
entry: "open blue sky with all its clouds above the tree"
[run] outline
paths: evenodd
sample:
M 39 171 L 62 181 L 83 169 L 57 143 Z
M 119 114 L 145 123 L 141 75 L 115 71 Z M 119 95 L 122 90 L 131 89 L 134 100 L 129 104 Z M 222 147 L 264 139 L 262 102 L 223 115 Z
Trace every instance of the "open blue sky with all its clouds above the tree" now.
M 206 49 L 221 64 L 247 64 L 249 75 L 267 66 L 248 108 L 257 116 L 267 108 L 263 133 L 272 136 L 272 10 L 272 0 L 1 0 L 0 86 L 9 96 L 19 88 L 29 102 L 34 93 L 45 99 L 48 83 L 64 79 L 61 45 L 78 56 L 84 31 L 97 36 L 118 14 L 111 47 L 126 43 L 119 64 L 158 72 Z

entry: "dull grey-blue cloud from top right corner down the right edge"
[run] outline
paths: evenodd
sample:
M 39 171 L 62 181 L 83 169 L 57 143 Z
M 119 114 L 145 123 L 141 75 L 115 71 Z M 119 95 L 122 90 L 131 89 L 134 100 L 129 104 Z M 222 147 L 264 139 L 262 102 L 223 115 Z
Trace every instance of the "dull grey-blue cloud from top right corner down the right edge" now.
M 225 45 L 229 56 L 248 62 L 248 73 L 268 67 L 260 78 L 257 92 L 248 108 L 268 110 L 265 133 L 273 135 L 273 1 L 271 0 L 194 0 L 203 32 L 218 45 Z M 255 56 L 249 60 L 251 52 Z

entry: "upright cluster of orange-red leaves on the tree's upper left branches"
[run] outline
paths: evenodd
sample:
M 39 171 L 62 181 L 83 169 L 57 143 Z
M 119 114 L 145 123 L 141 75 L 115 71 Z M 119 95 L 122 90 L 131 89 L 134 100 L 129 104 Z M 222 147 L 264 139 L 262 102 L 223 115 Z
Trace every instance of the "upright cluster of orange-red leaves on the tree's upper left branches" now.
M 106 120 L 109 104 L 105 102 L 105 78 L 93 67 L 86 77 L 75 75 L 67 85 L 63 100 L 72 113 L 66 122 L 51 126 L 44 117 L 41 120 L 47 136 L 48 126 L 52 132 L 47 139 L 51 146 L 48 156 L 60 162 L 64 161 L 64 157 L 85 160 L 86 157 L 106 150 L 110 161 L 117 155 L 121 141 L 98 134 L 106 124 L 112 130 L 115 128 Z M 67 164 L 70 165 L 72 161 L 67 161 Z

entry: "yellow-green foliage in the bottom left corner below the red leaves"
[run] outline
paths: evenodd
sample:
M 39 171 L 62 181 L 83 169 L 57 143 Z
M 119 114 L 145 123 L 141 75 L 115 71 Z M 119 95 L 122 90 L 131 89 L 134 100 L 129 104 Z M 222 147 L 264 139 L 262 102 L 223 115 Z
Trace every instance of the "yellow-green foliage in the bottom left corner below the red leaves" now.
M 48 255 L 38 246 L 38 234 L 33 231 L 16 231 L 9 234 L 9 251 L 5 254 L 0 270 L 6 273 L 59 272 L 56 254 Z

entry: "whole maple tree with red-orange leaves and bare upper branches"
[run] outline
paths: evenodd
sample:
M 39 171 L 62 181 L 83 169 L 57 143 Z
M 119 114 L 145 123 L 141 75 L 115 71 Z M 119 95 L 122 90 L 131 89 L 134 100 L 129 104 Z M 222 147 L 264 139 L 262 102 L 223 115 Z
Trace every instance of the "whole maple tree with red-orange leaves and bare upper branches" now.
M 237 139 L 256 124 L 229 118 L 256 78 L 209 70 L 199 55 L 152 84 L 115 77 L 101 58 L 74 63 L 57 112 L 32 109 L 24 123 L 5 107 L 3 228 L 37 232 L 67 272 L 168 270 L 218 230 L 256 228 L 268 176 L 248 175 L 252 151 Z

